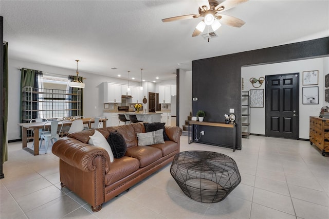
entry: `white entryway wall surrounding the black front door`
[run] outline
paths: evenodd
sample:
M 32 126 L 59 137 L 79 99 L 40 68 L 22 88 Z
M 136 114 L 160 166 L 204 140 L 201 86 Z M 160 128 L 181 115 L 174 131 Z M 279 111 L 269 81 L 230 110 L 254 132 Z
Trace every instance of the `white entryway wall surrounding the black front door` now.
M 248 66 L 241 68 L 241 77 L 244 78 L 244 90 L 264 89 L 265 83 L 259 88 L 254 88 L 250 78 L 260 78 L 268 75 L 281 75 L 299 72 L 299 138 L 309 139 L 309 116 L 319 116 L 324 102 L 324 76 L 329 74 L 329 57 L 283 62 L 267 65 Z M 319 104 L 303 104 L 302 87 L 303 71 L 319 70 L 319 84 L 310 85 L 319 87 Z M 258 84 L 258 83 L 257 83 Z M 304 86 L 306 87 L 306 86 Z M 265 103 L 265 100 L 264 100 Z M 265 105 L 263 108 L 250 108 L 250 133 L 265 135 Z

